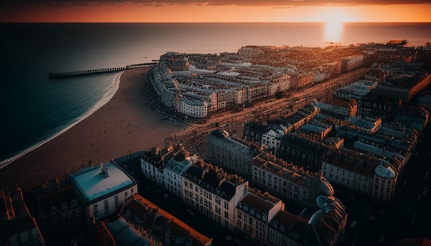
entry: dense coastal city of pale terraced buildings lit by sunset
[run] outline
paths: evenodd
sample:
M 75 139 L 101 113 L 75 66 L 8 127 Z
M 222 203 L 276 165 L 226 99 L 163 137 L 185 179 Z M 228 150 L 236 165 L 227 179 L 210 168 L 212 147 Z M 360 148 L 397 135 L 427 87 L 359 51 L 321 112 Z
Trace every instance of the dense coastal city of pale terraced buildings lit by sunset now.
M 140 67 L 145 107 L 178 131 L 2 188 L 1 243 L 431 245 L 429 43 L 249 45 L 122 69 Z

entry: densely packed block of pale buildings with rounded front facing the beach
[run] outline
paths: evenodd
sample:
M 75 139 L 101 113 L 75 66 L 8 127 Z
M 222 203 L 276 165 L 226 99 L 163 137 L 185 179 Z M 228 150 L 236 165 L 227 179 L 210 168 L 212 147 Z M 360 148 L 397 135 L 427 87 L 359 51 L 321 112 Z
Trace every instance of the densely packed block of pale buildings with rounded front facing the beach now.
M 167 108 L 191 118 L 205 118 L 209 113 L 238 109 L 351 71 L 361 67 L 363 60 L 362 56 L 347 56 L 311 71 L 239 62 L 253 54 L 244 53 L 245 49 L 260 48 L 242 47 L 237 54 L 220 56 L 168 52 L 160 56 L 159 65 L 151 72 L 151 84 Z

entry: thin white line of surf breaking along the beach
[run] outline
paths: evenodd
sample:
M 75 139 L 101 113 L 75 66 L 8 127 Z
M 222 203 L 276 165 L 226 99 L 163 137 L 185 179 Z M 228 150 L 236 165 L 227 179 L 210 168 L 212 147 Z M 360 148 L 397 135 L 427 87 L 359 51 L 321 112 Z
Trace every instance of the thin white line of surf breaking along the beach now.
M 118 91 L 118 88 L 120 87 L 120 77 L 123 74 L 123 72 L 124 71 L 121 71 L 120 73 L 116 74 L 116 76 L 114 76 L 114 78 L 112 78 L 113 81 L 112 81 L 111 85 L 109 86 L 109 88 L 107 89 L 105 95 L 103 95 L 101 100 L 99 100 L 96 104 L 94 104 L 94 106 L 92 108 L 90 108 L 86 113 L 81 115 L 81 117 L 76 118 L 76 120 L 74 120 L 72 122 L 72 124 L 69 124 L 65 128 L 61 129 L 61 131 L 54 133 L 54 135 L 52 135 L 51 137 L 48 137 L 47 139 L 43 139 L 41 142 L 38 142 L 38 143 L 34 144 L 33 146 L 26 148 L 25 150 L 22 150 L 17 155 L 14 155 L 14 156 L 9 157 L 7 159 L 3 159 L 2 161 L 0 161 L 0 169 L 4 168 L 5 166 L 8 166 L 9 164 L 11 164 L 16 159 L 19 159 L 23 155 L 30 153 L 32 150 L 35 150 L 36 148 L 43 146 L 43 144 L 50 142 L 52 139 L 65 133 L 65 131 L 69 130 L 70 128 L 72 128 L 73 126 L 78 124 L 79 122 L 85 120 L 85 118 L 92 115 L 92 113 L 94 113 L 95 111 L 97 111 L 98 109 L 103 107 L 103 105 L 105 105 L 107 102 L 109 102 L 109 100 L 111 100 L 111 98 L 115 95 L 116 91 Z

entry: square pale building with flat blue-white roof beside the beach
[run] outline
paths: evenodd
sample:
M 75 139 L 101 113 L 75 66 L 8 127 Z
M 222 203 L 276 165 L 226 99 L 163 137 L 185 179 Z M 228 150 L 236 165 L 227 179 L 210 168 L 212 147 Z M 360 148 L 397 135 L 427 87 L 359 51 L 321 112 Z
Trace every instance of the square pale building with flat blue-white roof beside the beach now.
M 69 175 L 69 181 L 83 204 L 88 224 L 116 213 L 120 205 L 138 192 L 135 179 L 115 161 L 78 170 Z

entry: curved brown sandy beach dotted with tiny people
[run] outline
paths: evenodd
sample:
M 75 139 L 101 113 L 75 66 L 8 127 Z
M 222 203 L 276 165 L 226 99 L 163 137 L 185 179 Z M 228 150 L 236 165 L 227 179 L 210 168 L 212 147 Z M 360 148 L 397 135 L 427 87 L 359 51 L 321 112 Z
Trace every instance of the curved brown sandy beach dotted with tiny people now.
M 163 115 L 151 110 L 143 95 L 149 67 L 128 69 L 120 76 L 115 95 L 103 107 L 65 133 L 55 137 L 0 169 L 0 188 L 24 190 L 46 180 L 62 179 L 74 167 L 95 164 L 153 146 L 165 146 L 165 138 L 176 135 L 186 125 L 161 121 Z

